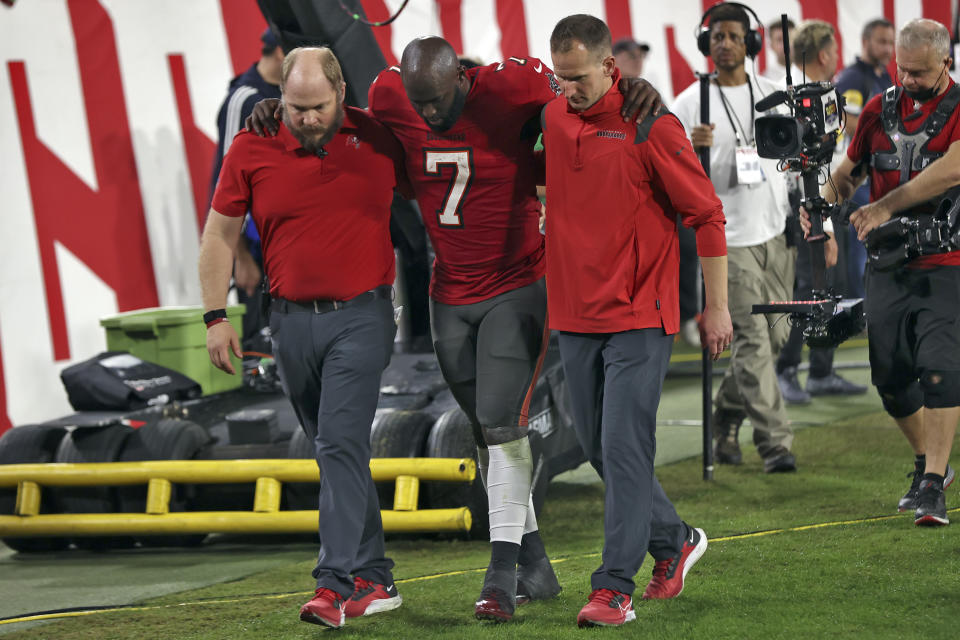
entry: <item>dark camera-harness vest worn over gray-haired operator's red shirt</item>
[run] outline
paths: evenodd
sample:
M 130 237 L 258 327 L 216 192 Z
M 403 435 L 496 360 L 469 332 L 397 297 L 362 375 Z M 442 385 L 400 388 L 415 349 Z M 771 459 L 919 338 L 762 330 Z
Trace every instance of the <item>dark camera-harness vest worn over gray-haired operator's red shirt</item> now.
M 913 171 L 923 171 L 931 162 L 943 155 L 942 151 L 930 151 L 927 145 L 942 130 L 953 110 L 960 104 L 960 85 L 953 85 L 937 108 L 927 116 L 916 133 L 907 133 L 900 120 L 897 104 L 903 87 L 893 86 L 883 92 L 883 107 L 880 119 L 883 132 L 890 143 L 889 151 L 873 153 L 870 166 L 877 171 L 900 171 L 900 184 L 910 180 Z

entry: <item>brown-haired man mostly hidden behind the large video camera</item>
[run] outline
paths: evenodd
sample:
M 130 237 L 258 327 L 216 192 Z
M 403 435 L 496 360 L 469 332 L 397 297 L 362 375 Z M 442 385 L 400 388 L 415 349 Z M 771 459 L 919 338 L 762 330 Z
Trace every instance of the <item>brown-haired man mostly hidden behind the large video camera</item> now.
M 798 69 L 806 74 L 804 82 L 829 82 L 837 72 L 838 46 L 833 26 L 822 20 L 806 20 L 797 28 L 791 40 L 791 59 Z M 794 81 L 803 78 L 800 71 L 794 70 Z M 799 185 L 798 185 L 799 188 Z M 792 213 L 792 212 L 791 212 Z M 813 297 L 813 270 L 810 258 L 810 246 L 799 237 L 799 227 L 788 225 L 788 233 L 793 234 L 797 246 L 796 299 L 810 300 Z M 837 229 L 843 240 L 842 228 Z M 825 246 L 827 262 L 834 262 L 837 254 L 836 239 L 831 237 Z M 844 256 L 845 257 L 845 256 Z M 827 278 L 836 280 L 842 272 L 828 269 Z M 836 285 L 836 282 L 831 284 Z M 841 287 L 842 289 L 842 287 Z M 793 325 L 790 338 L 777 357 L 777 382 L 787 404 L 807 404 L 811 396 L 855 395 L 866 393 L 867 388 L 846 380 L 833 370 L 834 347 L 810 348 L 810 375 L 807 377 L 806 390 L 797 381 L 797 367 L 800 364 L 803 349 L 803 332 L 799 325 Z

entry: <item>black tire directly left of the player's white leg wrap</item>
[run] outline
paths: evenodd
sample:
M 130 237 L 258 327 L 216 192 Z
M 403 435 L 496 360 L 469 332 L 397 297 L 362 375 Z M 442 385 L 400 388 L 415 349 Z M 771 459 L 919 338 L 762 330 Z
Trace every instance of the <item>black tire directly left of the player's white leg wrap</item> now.
M 470 425 L 470 419 L 460 408 L 451 409 L 437 418 L 427 439 L 426 455 L 428 458 L 477 459 L 473 428 Z M 473 516 L 473 526 L 468 535 L 474 538 L 489 538 L 487 492 L 483 488 L 479 472 L 471 484 L 430 482 L 425 485 L 424 493 L 431 509 L 469 507 Z

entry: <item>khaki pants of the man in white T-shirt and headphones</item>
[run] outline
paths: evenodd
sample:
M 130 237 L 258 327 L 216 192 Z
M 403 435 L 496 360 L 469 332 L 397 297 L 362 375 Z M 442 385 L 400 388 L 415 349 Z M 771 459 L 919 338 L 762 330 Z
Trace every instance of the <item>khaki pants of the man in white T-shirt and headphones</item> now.
M 791 299 L 795 263 L 796 250 L 787 248 L 782 234 L 763 244 L 727 249 L 733 344 L 716 406 L 750 418 L 753 442 L 761 457 L 774 447 L 789 449 L 793 443 L 774 366 L 790 324 L 787 318 L 750 311 L 754 304 Z

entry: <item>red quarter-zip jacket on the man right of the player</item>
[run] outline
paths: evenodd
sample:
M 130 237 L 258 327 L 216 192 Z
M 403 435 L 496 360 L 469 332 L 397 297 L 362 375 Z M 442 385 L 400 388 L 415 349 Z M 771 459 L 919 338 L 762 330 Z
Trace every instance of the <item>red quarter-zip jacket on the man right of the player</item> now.
M 586 111 L 543 111 L 550 328 L 615 333 L 680 325 L 676 219 L 700 256 L 727 253 L 723 205 L 677 118 L 620 116 L 613 86 Z

